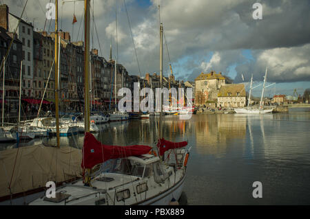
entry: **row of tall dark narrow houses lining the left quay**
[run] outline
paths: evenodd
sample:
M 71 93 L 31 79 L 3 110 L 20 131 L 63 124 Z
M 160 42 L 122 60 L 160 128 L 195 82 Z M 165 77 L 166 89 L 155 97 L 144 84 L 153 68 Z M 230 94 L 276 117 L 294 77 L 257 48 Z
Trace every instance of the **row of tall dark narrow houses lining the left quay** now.
M 7 5 L 0 5 L 0 58 L 6 56 L 8 47 L 17 28 L 14 43 L 6 60 L 5 103 L 6 111 L 16 111 L 19 107 L 19 87 L 21 86 L 22 103 L 34 104 L 44 95 L 45 103 L 54 102 L 54 38 L 55 33 L 34 30 L 28 23 L 11 14 Z M 72 42 L 68 32 L 60 32 L 60 62 L 59 62 L 59 98 L 61 111 L 83 111 L 84 99 L 84 44 L 83 41 Z M 93 108 L 114 108 L 115 87 L 134 89 L 134 82 L 140 82 L 140 88 L 159 87 L 159 76 L 147 73 L 141 76 L 130 76 L 121 64 L 99 56 L 97 49 L 91 54 L 90 93 Z M 21 71 L 21 61 L 23 62 Z M 20 72 L 22 72 L 20 74 Z M 20 76 L 22 78 L 19 84 Z M 164 87 L 192 87 L 175 80 L 174 76 L 163 78 Z M 2 91 L 2 83 L 0 85 Z M 116 96 L 116 102 L 121 97 Z M 111 104 L 112 103 L 112 104 Z M 112 106 L 111 106 L 112 105 Z

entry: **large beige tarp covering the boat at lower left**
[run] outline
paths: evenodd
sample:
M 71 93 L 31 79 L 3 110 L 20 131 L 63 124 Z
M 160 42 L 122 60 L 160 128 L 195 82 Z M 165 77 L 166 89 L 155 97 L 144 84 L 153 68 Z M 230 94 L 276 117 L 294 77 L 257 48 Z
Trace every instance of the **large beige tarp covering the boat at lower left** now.
M 81 150 L 69 146 L 36 145 L 0 151 L 0 198 L 10 195 L 8 187 L 12 194 L 18 194 L 45 187 L 48 181 L 81 177 L 81 159 Z

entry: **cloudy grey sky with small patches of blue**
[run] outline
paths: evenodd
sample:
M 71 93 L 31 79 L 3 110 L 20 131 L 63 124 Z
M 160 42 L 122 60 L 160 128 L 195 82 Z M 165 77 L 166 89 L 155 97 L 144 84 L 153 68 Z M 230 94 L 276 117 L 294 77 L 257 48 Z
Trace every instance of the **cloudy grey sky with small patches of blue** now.
M 45 6 L 50 1 L 54 2 L 28 0 L 23 19 L 40 30 L 53 31 L 54 22 L 45 23 Z M 6 3 L 13 14 L 20 15 L 25 0 L 0 2 Z M 124 0 L 91 2 L 95 23 L 91 47 L 93 41 L 99 54 L 108 58 L 112 41 L 112 56 L 118 55 L 118 61 L 130 74 L 140 75 L 130 26 L 141 76 L 159 71 L 160 4 L 161 22 L 176 78 L 194 81 L 201 72 L 212 69 L 249 87 L 251 74 L 254 84 L 262 84 L 268 67 L 267 82 L 276 84 L 267 88 L 267 95 L 292 95 L 293 89 L 302 94 L 310 88 L 309 0 L 125 0 L 127 13 Z M 256 2 L 262 5 L 262 19 L 255 20 L 252 16 Z M 74 25 L 73 14 L 77 19 Z M 83 40 L 82 18 L 83 1 L 59 4 L 59 25 L 71 33 L 73 41 Z M 164 74 L 168 73 L 169 58 L 164 47 Z M 254 89 L 254 95 L 260 92 L 261 87 Z

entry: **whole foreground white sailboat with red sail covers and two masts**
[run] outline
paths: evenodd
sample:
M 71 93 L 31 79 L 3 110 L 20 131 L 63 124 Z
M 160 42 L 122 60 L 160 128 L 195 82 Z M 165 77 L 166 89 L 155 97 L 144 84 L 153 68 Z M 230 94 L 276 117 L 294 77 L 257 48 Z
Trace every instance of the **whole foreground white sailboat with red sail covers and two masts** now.
M 85 63 L 89 51 L 89 10 L 90 0 L 85 0 Z M 162 24 L 160 30 L 162 88 Z M 83 180 L 58 187 L 55 196 L 45 195 L 30 205 L 169 205 L 178 200 L 185 182 L 189 157 L 190 148 L 184 149 L 187 141 L 172 142 L 162 137 L 162 107 L 156 145 L 158 156 L 150 146 L 107 146 L 97 141 L 89 132 L 88 73 L 88 66 L 85 65 L 85 137 L 81 160 Z M 169 150 L 176 154 L 175 161 L 170 160 L 169 156 L 165 159 L 165 152 Z M 108 165 L 108 162 L 112 165 Z

